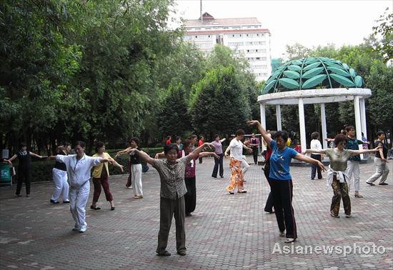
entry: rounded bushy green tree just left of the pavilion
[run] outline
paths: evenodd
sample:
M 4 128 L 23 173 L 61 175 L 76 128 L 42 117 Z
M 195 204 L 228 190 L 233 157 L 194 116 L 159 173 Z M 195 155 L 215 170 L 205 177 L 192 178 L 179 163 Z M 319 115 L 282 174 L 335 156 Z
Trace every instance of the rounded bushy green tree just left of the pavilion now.
M 219 66 L 207 71 L 194 86 L 191 116 L 199 134 L 233 134 L 250 119 L 247 94 L 236 76 L 234 66 Z

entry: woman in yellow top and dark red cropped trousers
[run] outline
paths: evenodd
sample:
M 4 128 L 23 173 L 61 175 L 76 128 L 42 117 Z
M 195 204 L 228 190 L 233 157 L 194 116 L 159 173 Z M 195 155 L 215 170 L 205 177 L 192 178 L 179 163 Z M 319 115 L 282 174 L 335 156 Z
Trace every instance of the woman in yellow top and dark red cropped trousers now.
M 98 141 L 96 143 L 96 154 L 94 154 L 93 157 L 99 156 L 103 159 L 110 159 L 114 161 L 114 159 L 112 159 L 111 156 L 104 151 L 105 151 L 104 143 L 102 141 Z M 123 172 L 123 166 L 118 164 L 116 161 L 114 161 L 113 164 L 114 166 L 121 169 L 121 172 Z M 108 176 L 109 176 L 108 162 L 101 163 L 97 166 L 94 166 L 94 171 L 93 171 L 94 196 L 93 196 L 93 203 L 91 204 L 90 209 L 93 210 L 101 209 L 100 207 L 97 207 L 96 204 L 99 199 L 99 195 L 101 194 L 101 186 L 102 186 L 105 192 L 106 201 L 109 201 L 109 203 L 111 204 L 111 210 L 114 210 L 114 199 L 111 194 L 111 191 L 109 191 Z

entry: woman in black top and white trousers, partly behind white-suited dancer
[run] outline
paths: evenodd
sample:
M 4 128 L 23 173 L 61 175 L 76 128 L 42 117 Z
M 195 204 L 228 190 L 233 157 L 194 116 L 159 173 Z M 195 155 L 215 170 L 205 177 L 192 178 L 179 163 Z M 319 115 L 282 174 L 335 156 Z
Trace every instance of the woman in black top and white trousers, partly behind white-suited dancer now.
M 58 155 L 66 156 L 71 151 L 71 145 L 69 143 L 64 143 L 64 145 L 58 147 Z M 54 181 L 54 192 L 51 196 L 50 202 L 52 204 L 59 204 L 59 198 L 61 192 L 63 193 L 63 204 L 68 204 L 69 199 L 69 184 L 67 181 L 67 169 L 66 164 L 56 161 L 54 168 L 52 169 L 52 177 Z

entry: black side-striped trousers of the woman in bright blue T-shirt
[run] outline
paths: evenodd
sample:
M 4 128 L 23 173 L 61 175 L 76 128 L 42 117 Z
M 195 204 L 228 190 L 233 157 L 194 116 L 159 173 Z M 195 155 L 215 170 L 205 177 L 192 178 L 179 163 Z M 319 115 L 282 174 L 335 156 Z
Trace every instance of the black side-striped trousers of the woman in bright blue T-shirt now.
M 279 230 L 287 229 L 287 238 L 297 238 L 296 221 L 294 219 L 294 208 L 292 207 L 292 180 L 270 179 L 274 201 L 274 212 L 276 213 Z

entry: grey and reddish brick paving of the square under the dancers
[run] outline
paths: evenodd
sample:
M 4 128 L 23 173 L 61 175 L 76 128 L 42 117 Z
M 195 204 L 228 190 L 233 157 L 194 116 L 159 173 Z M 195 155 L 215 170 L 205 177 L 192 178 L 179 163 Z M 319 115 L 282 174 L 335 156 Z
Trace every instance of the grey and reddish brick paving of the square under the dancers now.
M 0 268 L 18 269 L 393 269 L 393 162 L 389 186 L 367 186 L 373 164 L 361 165 L 361 193 L 351 192 L 351 219 L 329 216 L 332 189 L 310 181 L 309 168 L 292 168 L 294 211 L 299 239 L 305 245 L 383 246 L 384 254 L 279 254 L 274 214 L 265 214 L 269 186 L 261 166 L 247 173 L 247 194 L 229 195 L 225 178 L 212 179 L 212 159 L 197 166 L 197 209 L 186 219 L 187 255 L 176 254 L 174 226 L 170 257 L 155 254 L 159 229 L 159 179 L 154 169 L 143 175 L 144 199 L 132 199 L 126 176 L 112 176 L 116 210 L 101 194 L 100 211 L 86 210 L 88 230 L 71 231 L 69 206 L 49 204 L 51 183 L 32 185 L 31 197 L 14 197 L 16 186 L 0 189 Z M 24 192 L 24 190 L 23 190 Z M 92 196 L 92 193 L 91 193 Z M 91 202 L 91 196 L 89 203 Z M 89 204 L 88 204 L 89 207 Z M 382 251 L 382 248 L 380 248 Z M 367 249 L 366 249 L 367 251 Z

